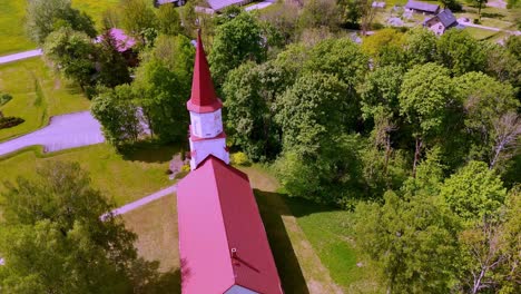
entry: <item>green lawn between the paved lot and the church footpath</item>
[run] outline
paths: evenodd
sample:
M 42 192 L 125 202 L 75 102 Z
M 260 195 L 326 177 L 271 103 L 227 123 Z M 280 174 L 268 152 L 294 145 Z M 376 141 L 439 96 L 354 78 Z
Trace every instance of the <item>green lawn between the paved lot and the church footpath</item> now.
M 150 157 L 122 156 L 107 144 L 41 155 L 29 148 L 7 158 L 0 158 L 0 179 L 13 180 L 18 176 L 33 177 L 35 170 L 48 160 L 78 161 L 89 171 L 92 186 L 112 196 L 117 205 L 139 199 L 171 185 L 165 174 L 168 158 L 177 150 L 174 147 L 149 146 Z M 157 155 L 163 154 L 159 158 Z M 126 159 L 127 158 L 127 159 Z M 1 183 L 0 182 L 0 183 Z M 0 194 L 3 186 L 0 185 Z

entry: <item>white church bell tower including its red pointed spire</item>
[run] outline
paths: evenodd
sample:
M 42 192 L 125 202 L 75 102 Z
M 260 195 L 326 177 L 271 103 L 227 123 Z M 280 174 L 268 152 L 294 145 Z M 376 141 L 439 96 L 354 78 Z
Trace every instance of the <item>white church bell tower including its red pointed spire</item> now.
M 190 111 L 190 168 L 213 155 L 229 164 L 226 134 L 223 130 L 220 109 L 223 102 L 217 98 L 206 60 L 200 32 L 197 36 L 196 60 L 191 81 L 191 97 L 186 104 Z

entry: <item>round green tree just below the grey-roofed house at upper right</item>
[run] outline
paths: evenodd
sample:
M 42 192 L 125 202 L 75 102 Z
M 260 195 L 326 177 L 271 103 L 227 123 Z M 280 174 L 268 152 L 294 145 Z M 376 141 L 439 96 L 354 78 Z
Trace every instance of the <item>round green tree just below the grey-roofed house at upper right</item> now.
M 454 76 L 469 71 L 484 71 L 485 50 L 465 30 L 449 30 L 438 41 L 438 61 Z

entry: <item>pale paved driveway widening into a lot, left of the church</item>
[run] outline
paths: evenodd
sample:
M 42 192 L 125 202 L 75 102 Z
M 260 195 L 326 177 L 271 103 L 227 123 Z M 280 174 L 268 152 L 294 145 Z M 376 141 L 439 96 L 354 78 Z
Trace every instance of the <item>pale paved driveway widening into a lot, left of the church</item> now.
M 0 156 L 18 149 L 43 145 L 43 151 L 58 151 L 105 141 L 101 125 L 89 111 L 51 117 L 49 126 L 0 143 Z

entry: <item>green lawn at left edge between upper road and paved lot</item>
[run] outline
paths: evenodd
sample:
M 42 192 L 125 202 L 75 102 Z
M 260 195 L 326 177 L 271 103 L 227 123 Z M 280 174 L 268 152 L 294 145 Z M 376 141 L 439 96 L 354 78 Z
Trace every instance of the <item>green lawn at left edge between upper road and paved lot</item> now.
M 90 104 L 78 87 L 57 78 L 38 57 L 0 66 L 0 91 L 13 97 L 0 107 L 3 115 L 26 120 L 1 129 L 0 141 L 45 126 L 50 116 L 87 110 Z

